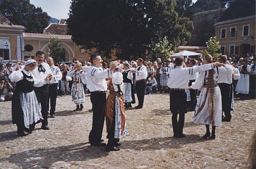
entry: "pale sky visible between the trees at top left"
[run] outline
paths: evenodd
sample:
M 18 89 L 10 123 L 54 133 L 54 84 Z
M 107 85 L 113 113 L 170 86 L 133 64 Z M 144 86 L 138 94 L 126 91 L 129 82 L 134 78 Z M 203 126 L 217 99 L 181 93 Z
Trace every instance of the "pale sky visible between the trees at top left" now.
M 192 0 L 196 2 L 197 0 Z M 71 0 L 30 0 L 35 7 L 39 6 L 44 12 L 56 19 L 67 19 Z

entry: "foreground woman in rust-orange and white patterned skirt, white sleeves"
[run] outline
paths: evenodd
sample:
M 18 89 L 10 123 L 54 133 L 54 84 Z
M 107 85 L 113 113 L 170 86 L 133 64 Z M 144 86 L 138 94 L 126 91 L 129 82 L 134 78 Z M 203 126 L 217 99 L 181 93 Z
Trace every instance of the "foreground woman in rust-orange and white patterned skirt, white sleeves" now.
M 106 132 L 108 132 L 106 136 L 108 138 L 107 152 L 120 150 L 116 148 L 116 146 L 120 146 L 119 139 L 128 134 L 125 107 L 123 106 L 123 75 L 119 72 L 119 67 L 112 74 L 108 91 L 105 112 Z

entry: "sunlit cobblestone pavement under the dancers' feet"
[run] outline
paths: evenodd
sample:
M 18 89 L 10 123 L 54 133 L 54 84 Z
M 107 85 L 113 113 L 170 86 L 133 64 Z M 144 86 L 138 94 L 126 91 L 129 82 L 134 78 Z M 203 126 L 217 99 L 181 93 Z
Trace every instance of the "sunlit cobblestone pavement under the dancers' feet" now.
M 236 100 L 232 121 L 216 128 L 215 140 L 204 140 L 204 125 L 186 114 L 185 138 L 173 138 L 169 95 L 145 96 L 144 108 L 126 110 L 129 136 L 119 152 L 90 146 L 92 115 L 87 95 L 83 112 L 73 112 L 71 96 L 57 100 L 51 130 L 16 136 L 11 102 L 0 102 L 0 168 L 246 168 L 256 124 L 256 100 Z M 136 105 L 133 105 L 136 106 Z M 102 138 L 106 138 L 106 128 Z M 105 139 L 105 142 L 107 140 Z

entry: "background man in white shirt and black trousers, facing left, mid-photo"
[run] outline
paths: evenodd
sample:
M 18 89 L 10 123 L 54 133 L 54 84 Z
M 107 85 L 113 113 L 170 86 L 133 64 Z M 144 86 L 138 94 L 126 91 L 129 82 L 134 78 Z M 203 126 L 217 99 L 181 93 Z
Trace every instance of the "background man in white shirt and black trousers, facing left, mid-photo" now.
M 145 96 L 145 85 L 146 79 L 148 76 L 147 68 L 143 65 L 143 59 L 137 59 L 138 67 L 136 70 L 131 70 L 129 73 L 135 73 L 136 79 L 136 92 L 138 98 L 138 106 L 135 109 L 142 109 L 144 103 L 144 96 Z

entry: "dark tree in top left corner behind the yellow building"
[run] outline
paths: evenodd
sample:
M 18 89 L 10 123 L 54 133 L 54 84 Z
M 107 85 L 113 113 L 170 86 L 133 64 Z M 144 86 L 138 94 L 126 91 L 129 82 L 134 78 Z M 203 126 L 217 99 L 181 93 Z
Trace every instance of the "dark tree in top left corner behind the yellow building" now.
M 50 18 L 29 0 L 0 0 L 0 12 L 13 24 L 26 27 L 28 33 L 42 33 Z

